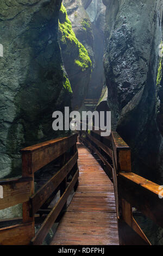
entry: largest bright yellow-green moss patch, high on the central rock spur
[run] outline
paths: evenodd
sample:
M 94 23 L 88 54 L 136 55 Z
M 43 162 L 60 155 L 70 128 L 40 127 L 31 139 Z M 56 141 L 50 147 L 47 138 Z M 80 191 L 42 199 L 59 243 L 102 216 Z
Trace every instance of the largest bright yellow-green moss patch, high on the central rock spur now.
M 72 30 L 71 21 L 68 19 L 67 12 L 63 4 L 61 5 L 60 14 L 59 33 L 61 44 L 65 45 L 67 52 L 72 45 L 74 50 L 78 50 L 78 57 L 74 59 L 74 64 L 82 69 L 82 71 L 85 71 L 92 65 L 89 54 L 85 47 L 76 38 L 76 35 Z

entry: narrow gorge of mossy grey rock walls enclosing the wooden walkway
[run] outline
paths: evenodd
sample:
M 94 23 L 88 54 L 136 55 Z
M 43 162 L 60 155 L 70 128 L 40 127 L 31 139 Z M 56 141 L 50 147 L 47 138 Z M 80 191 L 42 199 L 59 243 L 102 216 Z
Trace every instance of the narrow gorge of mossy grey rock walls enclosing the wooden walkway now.
M 72 134 L 52 129 L 69 107 L 111 111 L 132 172 L 163 184 L 162 14 L 162 0 L 1 0 L 0 179 L 21 176 L 22 148 Z M 161 228 L 137 220 L 163 244 Z

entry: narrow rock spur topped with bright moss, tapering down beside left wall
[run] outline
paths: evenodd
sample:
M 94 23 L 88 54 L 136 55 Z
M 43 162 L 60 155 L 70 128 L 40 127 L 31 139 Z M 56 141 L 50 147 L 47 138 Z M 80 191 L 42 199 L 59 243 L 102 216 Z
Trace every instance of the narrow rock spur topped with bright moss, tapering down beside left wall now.
M 72 109 L 79 109 L 87 95 L 92 63 L 85 47 L 72 30 L 71 21 L 63 4 L 59 14 L 59 39 L 62 59 L 73 92 Z

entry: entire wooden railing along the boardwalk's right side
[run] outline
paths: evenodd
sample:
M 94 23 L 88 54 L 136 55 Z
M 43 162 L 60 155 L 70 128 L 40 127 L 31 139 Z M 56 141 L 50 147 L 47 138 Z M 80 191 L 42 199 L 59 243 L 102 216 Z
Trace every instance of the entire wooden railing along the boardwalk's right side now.
M 163 228 L 160 186 L 131 172 L 130 148 L 117 132 L 101 137 L 101 131 L 82 131 L 80 140 L 97 154 L 114 184 L 120 244 L 151 245 L 133 217 L 133 208 Z

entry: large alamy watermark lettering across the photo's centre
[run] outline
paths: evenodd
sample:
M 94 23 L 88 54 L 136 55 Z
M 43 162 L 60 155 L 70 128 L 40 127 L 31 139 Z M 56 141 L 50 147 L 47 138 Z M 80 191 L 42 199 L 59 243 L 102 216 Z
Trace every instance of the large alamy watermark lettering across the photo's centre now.
M 101 136 L 110 136 L 111 133 L 111 112 L 110 111 L 72 111 L 65 107 L 65 113 L 55 111 L 52 115 L 55 120 L 52 127 L 54 131 L 95 131 L 101 130 Z M 70 121 L 71 119 L 71 121 Z M 106 125 L 105 125 L 106 124 Z

